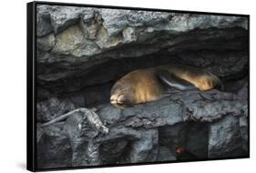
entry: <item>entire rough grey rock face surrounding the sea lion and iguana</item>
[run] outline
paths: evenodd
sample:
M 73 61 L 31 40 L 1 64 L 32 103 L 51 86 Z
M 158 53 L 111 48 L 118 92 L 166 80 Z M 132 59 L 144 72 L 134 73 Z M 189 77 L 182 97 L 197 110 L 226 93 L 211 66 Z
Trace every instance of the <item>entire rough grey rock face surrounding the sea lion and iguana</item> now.
M 63 5 L 36 12 L 38 168 L 248 156 L 247 17 Z M 167 63 L 205 68 L 225 91 L 109 104 L 119 77 Z M 80 107 L 97 107 L 108 134 L 79 113 L 41 126 Z

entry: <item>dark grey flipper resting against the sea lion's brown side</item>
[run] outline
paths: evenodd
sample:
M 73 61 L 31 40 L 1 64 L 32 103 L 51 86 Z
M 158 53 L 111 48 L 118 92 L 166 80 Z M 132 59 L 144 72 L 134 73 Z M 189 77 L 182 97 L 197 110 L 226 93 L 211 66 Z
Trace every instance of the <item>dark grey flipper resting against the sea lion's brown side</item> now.
M 159 70 L 158 76 L 163 84 L 179 89 L 181 91 L 198 90 L 198 87 L 194 86 L 189 81 L 174 76 L 170 74 L 167 70 Z

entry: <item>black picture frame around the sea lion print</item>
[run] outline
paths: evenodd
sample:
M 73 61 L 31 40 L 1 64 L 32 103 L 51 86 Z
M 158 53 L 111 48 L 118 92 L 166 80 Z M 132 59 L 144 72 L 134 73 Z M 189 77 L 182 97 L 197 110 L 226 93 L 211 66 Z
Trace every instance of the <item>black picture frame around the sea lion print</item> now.
M 129 163 L 129 164 L 110 164 L 98 166 L 85 166 L 85 167 L 70 167 L 70 168 L 37 168 L 36 167 L 36 5 L 66 5 L 66 6 L 81 6 L 81 7 L 97 7 L 109 9 L 128 9 L 128 10 L 143 10 L 154 12 L 173 12 L 173 13 L 189 13 L 197 15 L 226 15 L 226 16 L 242 16 L 248 18 L 248 155 L 237 158 L 250 158 L 250 15 L 239 14 L 225 14 L 225 13 L 211 13 L 211 12 L 197 12 L 197 11 L 181 11 L 169 9 L 151 9 L 151 8 L 137 8 L 125 6 L 109 6 L 109 5 L 83 5 L 83 4 L 69 4 L 69 3 L 56 3 L 56 2 L 31 2 L 27 3 L 27 102 L 26 102 L 26 168 L 30 171 L 49 171 L 49 170 L 63 170 L 63 169 L 77 169 L 77 168 L 108 168 L 120 166 L 134 166 L 134 165 L 147 165 L 147 164 L 163 164 L 163 163 L 176 163 L 180 161 L 156 161 L 156 162 L 143 162 L 143 163 Z M 233 158 L 209 158 L 209 159 L 191 159 L 181 162 L 190 161 L 210 161 L 219 159 L 233 159 Z

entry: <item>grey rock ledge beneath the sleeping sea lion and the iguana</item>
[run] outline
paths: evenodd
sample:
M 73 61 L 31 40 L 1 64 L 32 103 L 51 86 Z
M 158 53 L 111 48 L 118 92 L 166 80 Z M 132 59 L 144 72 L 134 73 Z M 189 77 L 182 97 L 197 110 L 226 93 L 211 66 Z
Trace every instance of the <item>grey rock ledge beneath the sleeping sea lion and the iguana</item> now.
M 90 115 L 80 113 L 46 127 L 38 123 L 37 159 L 43 163 L 39 167 L 179 160 L 177 147 L 195 159 L 241 157 L 248 152 L 247 85 L 237 94 L 183 92 L 127 109 L 110 104 L 97 109 L 108 133 L 88 123 Z

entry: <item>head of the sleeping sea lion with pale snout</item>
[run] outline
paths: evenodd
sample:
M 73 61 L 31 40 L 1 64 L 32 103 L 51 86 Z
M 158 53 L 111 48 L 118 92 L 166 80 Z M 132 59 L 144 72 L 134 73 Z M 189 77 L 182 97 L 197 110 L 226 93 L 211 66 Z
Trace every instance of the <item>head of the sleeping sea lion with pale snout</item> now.
M 131 107 L 135 102 L 134 89 L 126 81 L 117 81 L 110 91 L 110 103 L 115 107 Z

